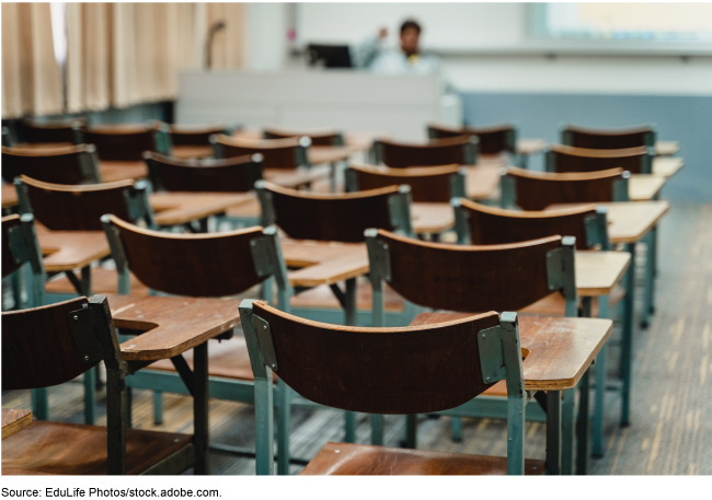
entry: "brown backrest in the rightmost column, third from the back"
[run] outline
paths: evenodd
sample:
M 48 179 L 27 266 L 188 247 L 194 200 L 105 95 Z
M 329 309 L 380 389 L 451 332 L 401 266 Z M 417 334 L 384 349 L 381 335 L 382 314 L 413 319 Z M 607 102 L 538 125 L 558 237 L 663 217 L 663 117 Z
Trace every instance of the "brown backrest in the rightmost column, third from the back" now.
M 517 205 L 524 210 L 543 210 L 554 204 L 613 200 L 613 183 L 622 178 L 622 168 L 590 173 L 555 174 L 509 166 L 515 179 Z

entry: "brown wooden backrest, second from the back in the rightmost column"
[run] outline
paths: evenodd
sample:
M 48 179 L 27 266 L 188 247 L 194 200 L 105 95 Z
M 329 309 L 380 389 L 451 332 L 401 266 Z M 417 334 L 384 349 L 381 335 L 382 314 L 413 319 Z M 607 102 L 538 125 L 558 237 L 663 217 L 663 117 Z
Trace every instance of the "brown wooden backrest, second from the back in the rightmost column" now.
M 546 156 L 548 172 L 598 172 L 621 167 L 631 174 L 650 174 L 653 155 L 650 148 L 584 149 L 552 144 Z

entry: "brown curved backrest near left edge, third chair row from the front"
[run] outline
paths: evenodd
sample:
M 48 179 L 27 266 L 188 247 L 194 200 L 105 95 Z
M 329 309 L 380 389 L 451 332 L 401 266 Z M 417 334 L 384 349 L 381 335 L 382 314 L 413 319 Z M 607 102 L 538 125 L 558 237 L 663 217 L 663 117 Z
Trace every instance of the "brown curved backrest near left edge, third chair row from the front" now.
M 102 231 L 104 213 L 133 220 L 126 197 L 134 190 L 134 181 L 67 186 L 24 175 L 20 179 L 35 218 L 53 231 Z

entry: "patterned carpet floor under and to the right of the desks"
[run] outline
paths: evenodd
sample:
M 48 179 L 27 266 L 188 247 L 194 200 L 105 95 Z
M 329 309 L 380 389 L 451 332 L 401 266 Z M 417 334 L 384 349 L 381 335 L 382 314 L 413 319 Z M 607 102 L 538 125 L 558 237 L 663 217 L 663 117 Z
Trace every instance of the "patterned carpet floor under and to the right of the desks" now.
M 631 427 L 621 428 L 619 399 L 606 409 L 606 456 L 593 458 L 590 474 L 712 474 L 712 205 L 674 204 L 659 231 L 657 312 L 648 329 L 634 337 Z M 644 259 L 640 245 L 639 259 Z M 642 264 L 642 263 L 640 263 Z M 642 272 L 643 266 L 638 267 Z M 642 275 L 639 277 L 642 287 Z M 639 298 L 642 293 L 638 294 Z M 642 304 L 636 304 L 640 311 Z M 613 342 L 620 337 L 619 325 Z M 616 369 L 613 345 L 609 367 Z M 97 394 L 97 423 L 105 425 L 104 394 Z M 164 423 L 153 425 L 148 391 L 134 391 L 134 423 L 141 429 L 192 432 L 192 399 L 163 396 Z M 2 406 L 30 408 L 30 392 L 3 392 Z M 83 421 L 83 385 L 77 381 L 49 391 L 53 420 Z M 328 441 L 343 440 L 340 411 L 292 410 L 291 452 L 309 458 Z M 252 447 L 251 405 L 210 400 L 210 440 Z M 386 445 L 398 446 L 403 417 L 387 417 Z M 462 419 L 462 442 L 450 439 L 450 419 L 422 417 L 418 447 L 474 454 L 506 454 L 506 422 Z M 359 415 L 356 440 L 370 441 L 370 420 Z M 526 456 L 543 458 L 546 427 L 527 422 Z M 213 474 L 254 474 L 254 461 L 211 451 Z M 296 474 L 301 466 L 294 465 Z

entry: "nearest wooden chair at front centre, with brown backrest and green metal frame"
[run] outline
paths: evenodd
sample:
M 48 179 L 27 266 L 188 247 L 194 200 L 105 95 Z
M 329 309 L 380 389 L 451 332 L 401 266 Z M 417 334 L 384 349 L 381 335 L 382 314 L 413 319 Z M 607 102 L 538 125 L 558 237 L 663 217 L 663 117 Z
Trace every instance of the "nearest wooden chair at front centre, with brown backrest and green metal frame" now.
M 512 394 L 506 460 L 328 443 L 302 474 L 543 473 L 543 461 L 524 458 L 528 394 L 515 313 L 499 318 L 491 312 L 428 327 L 378 330 L 310 322 L 250 300 L 242 301 L 240 315 L 255 379 L 257 474 L 271 475 L 274 469 L 273 372 L 319 404 L 348 411 L 407 415 L 447 410 L 476 397 L 493 382 L 492 377 L 485 381 L 485 373 L 494 365 L 506 377 Z M 498 338 L 502 347 L 497 356 L 485 354 L 485 332 Z M 359 352 L 368 356 L 355 356 Z

